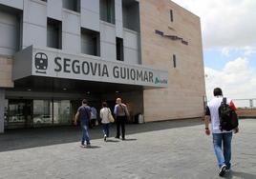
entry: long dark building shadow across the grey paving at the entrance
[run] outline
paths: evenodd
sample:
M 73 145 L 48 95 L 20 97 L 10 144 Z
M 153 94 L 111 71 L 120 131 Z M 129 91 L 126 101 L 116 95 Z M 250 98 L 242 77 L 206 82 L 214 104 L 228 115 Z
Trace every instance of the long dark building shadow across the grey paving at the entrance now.
M 181 119 L 174 121 L 152 122 L 145 124 L 126 125 L 126 134 L 147 132 L 161 129 L 175 129 L 203 124 L 202 119 Z M 116 134 L 116 125 L 110 128 L 111 136 Z M 89 130 L 91 139 L 103 139 L 101 127 Z M 13 149 L 29 149 L 56 144 L 79 142 L 81 129 L 79 127 L 54 127 L 37 129 L 7 129 L 0 134 L 0 152 Z M 126 139 L 126 141 L 137 139 Z M 108 142 L 115 142 L 108 140 Z

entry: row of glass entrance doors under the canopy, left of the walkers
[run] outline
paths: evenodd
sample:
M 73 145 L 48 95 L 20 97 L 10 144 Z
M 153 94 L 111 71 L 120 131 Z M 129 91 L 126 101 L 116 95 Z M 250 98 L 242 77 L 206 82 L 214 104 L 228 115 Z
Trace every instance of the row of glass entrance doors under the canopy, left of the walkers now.
M 5 126 L 30 128 L 72 124 L 70 100 L 6 100 Z

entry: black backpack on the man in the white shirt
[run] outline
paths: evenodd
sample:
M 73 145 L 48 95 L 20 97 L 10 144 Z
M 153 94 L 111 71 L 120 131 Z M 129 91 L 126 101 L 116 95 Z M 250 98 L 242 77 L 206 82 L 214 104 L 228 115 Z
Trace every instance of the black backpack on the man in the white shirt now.
M 226 104 L 226 98 L 224 97 L 221 106 L 219 107 L 220 116 L 220 129 L 230 131 L 238 127 L 237 113 Z

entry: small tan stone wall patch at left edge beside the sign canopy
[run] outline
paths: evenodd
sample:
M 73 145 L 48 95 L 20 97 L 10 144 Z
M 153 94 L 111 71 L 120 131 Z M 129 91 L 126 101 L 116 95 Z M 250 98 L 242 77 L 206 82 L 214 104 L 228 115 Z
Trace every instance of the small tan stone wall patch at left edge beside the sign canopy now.
M 13 88 L 14 84 L 11 80 L 12 59 L 0 57 L 0 88 Z

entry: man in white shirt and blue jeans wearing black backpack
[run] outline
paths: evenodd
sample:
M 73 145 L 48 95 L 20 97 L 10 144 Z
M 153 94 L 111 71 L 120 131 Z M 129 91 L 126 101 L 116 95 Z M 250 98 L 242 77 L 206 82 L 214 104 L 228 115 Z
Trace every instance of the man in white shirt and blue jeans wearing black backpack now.
M 205 111 L 205 133 L 210 135 L 212 132 L 213 147 L 220 168 L 219 176 L 224 176 L 231 168 L 231 140 L 233 131 L 239 131 L 238 118 L 233 101 L 224 98 L 222 89 L 214 89 L 213 94 L 214 98 L 207 103 Z

